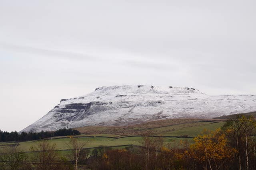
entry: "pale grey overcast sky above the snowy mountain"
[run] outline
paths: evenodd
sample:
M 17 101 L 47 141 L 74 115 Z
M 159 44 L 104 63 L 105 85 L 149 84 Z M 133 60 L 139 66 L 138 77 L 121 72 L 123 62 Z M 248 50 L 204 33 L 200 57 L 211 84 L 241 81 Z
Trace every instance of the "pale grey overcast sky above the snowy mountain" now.
M 98 86 L 256 94 L 255 0 L 0 0 L 0 129 Z

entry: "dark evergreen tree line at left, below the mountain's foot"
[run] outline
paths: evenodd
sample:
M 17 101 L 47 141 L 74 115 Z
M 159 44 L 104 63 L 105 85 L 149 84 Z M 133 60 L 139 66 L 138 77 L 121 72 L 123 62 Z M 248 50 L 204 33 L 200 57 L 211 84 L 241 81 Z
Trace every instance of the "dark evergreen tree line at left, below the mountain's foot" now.
M 17 131 L 14 132 L 7 132 L 0 130 L 0 142 L 7 142 L 7 141 L 33 141 L 38 139 L 46 139 L 49 137 L 56 137 L 56 136 L 67 136 L 67 135 L 80 135 L 80 132 L 76 129 L 58 129 L 56 131 L 41 131 L 41 132 L 22 132 L 18 133 Z

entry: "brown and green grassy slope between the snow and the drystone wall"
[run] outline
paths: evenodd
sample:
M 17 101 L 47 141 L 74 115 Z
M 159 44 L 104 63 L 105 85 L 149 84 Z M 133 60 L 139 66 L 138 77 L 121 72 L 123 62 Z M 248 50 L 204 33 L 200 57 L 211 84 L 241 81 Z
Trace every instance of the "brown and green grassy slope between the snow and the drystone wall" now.
M 220 127 L 223 121 L 214 120 L 217 123 L 206 122 L 203 119 L 167 119 L 159 121 L 151 121 L 147 123 L 141 123 L 139 125 L 131 126 L 91 126 L 91 127 L 79 127 L 76 128 L 83 134 L 95 135 L 95 134 L 111 134 L 117 136 L 130 136 L 130 135 L 144 135 L 144 134 L 154 134 L 154 135 L 189 135 L 195 136 L 198 131 L 195 132 L 196 127 L 200 131 L 205 127 L 214 129 L 215 127 Z M 188 128 L 188 129 L 186 129 Z M 190 130 L 190 128 L 192 128 Z M 195 129 L 194 129 L 195 128 Z

